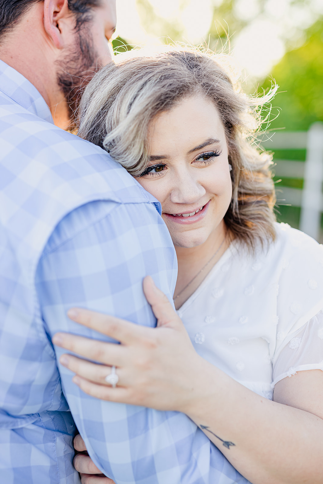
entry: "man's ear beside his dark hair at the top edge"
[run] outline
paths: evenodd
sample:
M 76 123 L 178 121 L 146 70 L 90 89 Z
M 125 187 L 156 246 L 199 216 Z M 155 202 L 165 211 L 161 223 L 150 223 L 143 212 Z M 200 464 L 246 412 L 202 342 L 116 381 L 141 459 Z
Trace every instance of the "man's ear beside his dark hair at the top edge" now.
M 64 46 L 60 20 L 69 15 L 68 0 L 44 0 L 44 28 L 58 49 Z

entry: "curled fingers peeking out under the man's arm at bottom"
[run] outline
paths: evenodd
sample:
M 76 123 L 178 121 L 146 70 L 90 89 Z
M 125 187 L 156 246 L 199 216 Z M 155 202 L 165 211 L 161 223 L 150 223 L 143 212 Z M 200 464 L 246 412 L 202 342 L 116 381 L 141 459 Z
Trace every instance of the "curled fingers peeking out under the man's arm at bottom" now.
M 84 440 L 79 434 L 74 439 L 74 448 L 77 453 L 86 453 L 76 454 L 73 461 L 75 469 L 81 474 L 82 484 L 115 484 L 112 479 L 106 477 L 102 474 L 101 470 L 96 467 L 87 453 Z

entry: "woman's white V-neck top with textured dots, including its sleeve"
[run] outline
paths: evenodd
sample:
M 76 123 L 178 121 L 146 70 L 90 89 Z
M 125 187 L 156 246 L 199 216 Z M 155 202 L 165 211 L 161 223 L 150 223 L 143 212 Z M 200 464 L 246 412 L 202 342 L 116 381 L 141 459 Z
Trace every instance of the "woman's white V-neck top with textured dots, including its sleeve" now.
M 282 378 L 323 370 L 323 246 L 276 229 L 253 256 L 232 242 L 177 311 L 205 360 L 269 399 Z

